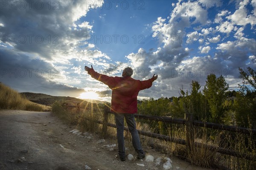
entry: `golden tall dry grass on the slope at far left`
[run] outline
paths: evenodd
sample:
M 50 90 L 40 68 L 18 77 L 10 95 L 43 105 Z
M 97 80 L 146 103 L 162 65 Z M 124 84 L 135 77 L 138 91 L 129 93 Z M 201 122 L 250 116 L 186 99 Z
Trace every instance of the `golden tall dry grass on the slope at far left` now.
M 25 96 L 0 83 L 0 109 L 15 109 L 24 111 L 43 111 L 43 107 L 30 102 Z

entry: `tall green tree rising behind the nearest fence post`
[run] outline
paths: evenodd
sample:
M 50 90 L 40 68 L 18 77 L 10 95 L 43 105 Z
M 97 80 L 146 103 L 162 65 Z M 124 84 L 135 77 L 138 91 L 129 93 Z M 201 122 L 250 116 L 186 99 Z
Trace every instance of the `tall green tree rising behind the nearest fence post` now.
M 223 123 L 224 107 L 222 103 L 228 88 L 229 86 L 222 75 L 218 78 L 215 74 L 207 76 L 203 92 L 209 104 L 210 122 Z

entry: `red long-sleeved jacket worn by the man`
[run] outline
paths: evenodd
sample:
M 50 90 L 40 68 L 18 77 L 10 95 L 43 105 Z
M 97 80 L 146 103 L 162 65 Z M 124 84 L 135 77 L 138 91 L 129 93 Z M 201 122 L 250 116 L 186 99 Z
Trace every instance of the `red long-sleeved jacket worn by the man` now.
M 139 91 L 152 86 L 154 78 L 140 81 L 131 77 L 109 77 L 94 70 L 88 72 L 94 79 L 112 89 L 111 111 L 116 113 L 137 113 Z

